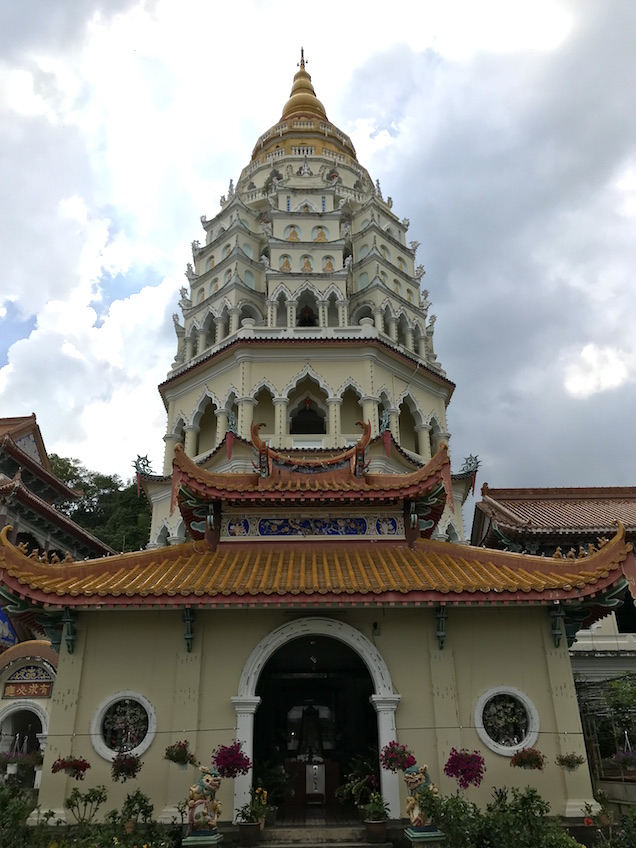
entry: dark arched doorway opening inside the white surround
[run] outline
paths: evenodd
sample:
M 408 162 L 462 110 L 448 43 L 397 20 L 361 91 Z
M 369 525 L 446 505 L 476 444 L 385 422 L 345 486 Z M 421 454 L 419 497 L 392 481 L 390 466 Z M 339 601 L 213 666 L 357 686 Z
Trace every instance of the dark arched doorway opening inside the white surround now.
M 364 661 L 339 639 L 304 635 L 270 656 L 254 717 L 254 774 L 270 803 L 288 811 L 342 806 L 337 789 L 351 760 L 377 752 L 373 693 Z

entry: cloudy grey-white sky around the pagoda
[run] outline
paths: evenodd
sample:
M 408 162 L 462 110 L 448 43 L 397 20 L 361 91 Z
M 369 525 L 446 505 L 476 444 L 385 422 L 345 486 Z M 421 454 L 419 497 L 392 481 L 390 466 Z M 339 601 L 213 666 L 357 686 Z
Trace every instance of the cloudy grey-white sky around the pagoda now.
M 190 242 L 303 45 L 421 242 L 454 465 L 636 485 L 634 43 L 633 0 L 5 0 L 0 414 L 161 468 Z

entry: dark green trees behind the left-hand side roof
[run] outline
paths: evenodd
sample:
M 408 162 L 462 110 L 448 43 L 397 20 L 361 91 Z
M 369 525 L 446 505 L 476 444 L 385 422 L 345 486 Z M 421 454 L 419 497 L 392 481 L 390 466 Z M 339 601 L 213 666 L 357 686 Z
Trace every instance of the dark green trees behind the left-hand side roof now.
M 141 550 L 150 531 L 150 504 L 134 481 L 117 474 L 89 471 L 79 459 L 49 455 L 51 471 L 81 496 L 66 501 L 60 511 L 117 551 Z

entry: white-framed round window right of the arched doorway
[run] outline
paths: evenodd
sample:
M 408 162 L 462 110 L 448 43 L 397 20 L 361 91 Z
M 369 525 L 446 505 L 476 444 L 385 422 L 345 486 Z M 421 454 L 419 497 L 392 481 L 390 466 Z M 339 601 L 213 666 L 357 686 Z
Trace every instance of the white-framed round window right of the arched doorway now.
M 527 695 L 512 686 L 489 689 L 475 706 L 475 728 L 491 751 L 504 757 L 534 745 L 539 714 Z

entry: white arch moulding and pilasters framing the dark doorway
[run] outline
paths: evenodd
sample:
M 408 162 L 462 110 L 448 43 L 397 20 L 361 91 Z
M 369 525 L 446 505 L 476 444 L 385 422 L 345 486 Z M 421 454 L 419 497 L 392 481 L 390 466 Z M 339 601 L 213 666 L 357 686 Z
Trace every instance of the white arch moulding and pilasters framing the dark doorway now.
M 303 636 L 326 636 L 348 645 L 366 665 L 373 682 L 374 694 L 371 703 L 378 718 L 378 747 L 380 750 L 397 738 L 395 711 L 400 696 L 393 691 L 393 683 L 387 664 L 375 645 L 367 637 L 346 624 L 332 618 L 299 618 L 272 630 L 249 655 L 239 681 L 238 694 L 232 698 L 236 710 L 236 738 L 243 743 L 243 750 L 250 758 L 254 756 L 254 713 L 261 702 L 256 694 L 259 677 L 265 664 L 283 645 Z M 381 789 L 389 804 L 391 818 L 400 815 L 400 789 L 396 772 L 380 769 Z M 249 799 L 252 783 L 251 771 L 234 779 L 234 815 Z

